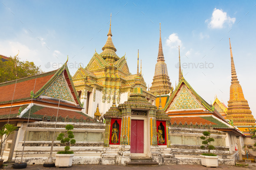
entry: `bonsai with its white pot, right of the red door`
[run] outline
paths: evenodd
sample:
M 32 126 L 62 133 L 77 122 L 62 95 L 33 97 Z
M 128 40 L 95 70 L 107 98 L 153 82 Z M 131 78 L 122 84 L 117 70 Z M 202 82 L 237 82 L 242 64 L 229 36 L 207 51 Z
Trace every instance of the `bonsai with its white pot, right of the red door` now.
M 201 154 L 201 164 L 206 167 L 218 167 L 218 156 L 216 154 L 211 154 L 210 150 L 215 149 L 211 142 L 214 141 L 213 138 L 210 138 L 210 132 L 203 132 L 203 136 L 200 137 L 202 141 L 201 149 L 207 149 L 208 153 Z

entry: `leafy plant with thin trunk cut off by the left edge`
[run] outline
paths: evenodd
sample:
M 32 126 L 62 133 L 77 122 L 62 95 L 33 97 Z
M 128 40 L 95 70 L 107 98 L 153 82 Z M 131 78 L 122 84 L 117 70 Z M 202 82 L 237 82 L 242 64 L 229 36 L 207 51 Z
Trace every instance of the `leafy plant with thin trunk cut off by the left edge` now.
M 1 138 L 1 145 L 0 145 L 0 167 L 3 165 L 3 151 L 4 151 L 4 143 L 7 140 L 7 138 L 14 133 L 14 131 L 17 129 L 17 126 L 14 126 L 12 124 L 5 124 L 2 128 L 0 128 L 0 138 Z

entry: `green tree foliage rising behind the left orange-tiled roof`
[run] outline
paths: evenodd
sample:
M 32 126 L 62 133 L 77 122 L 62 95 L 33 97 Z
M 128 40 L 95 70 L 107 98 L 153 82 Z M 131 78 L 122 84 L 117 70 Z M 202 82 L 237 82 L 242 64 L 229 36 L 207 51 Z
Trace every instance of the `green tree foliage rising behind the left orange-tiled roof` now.
M 6 61 L 0 59 L 0 83 L 40 74 L 43 71 L 34 62 L 20 61 L 17 56 Z

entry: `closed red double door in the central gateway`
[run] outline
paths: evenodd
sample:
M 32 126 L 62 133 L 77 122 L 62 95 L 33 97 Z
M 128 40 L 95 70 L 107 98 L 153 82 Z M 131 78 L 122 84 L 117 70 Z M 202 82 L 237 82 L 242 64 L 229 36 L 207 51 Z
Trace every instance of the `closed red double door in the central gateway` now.
M 131 153 L 144 153 L 144 120 L 131 120 Z

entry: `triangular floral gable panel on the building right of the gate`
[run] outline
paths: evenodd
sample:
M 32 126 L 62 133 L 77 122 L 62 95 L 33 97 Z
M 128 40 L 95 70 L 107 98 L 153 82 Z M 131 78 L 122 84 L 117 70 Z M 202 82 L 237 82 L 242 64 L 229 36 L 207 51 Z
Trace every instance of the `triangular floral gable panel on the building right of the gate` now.
M 197 108 L 202 108 L 201 104 L 189 92 L 189 90 L 185 86 L 183 86 L 169 109 L 174 110 L 174 109 L 197 109 Z

